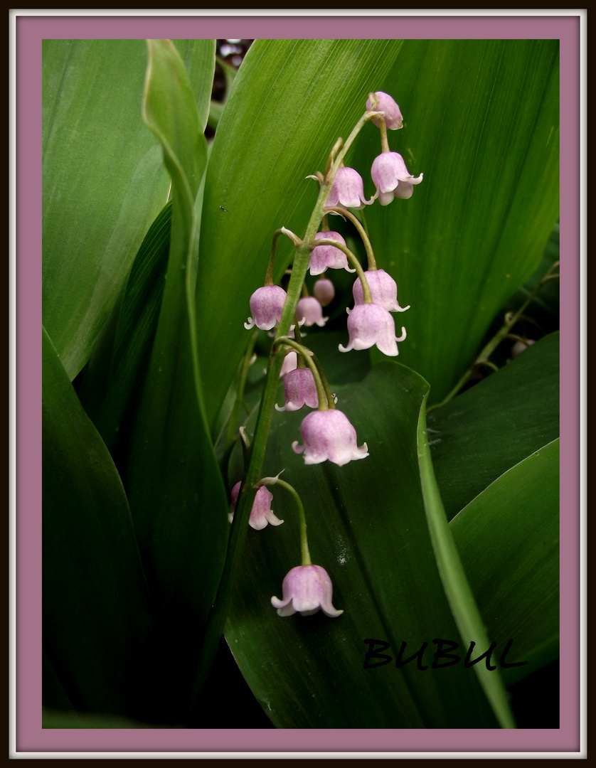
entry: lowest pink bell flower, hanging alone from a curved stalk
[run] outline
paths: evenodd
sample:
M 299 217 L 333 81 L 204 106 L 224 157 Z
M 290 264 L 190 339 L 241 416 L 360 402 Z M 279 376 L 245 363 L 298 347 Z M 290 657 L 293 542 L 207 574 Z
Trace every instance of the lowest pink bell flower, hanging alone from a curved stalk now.
M 320 565 L 297 565 L 283 579 L 283 600 L 271 598 L 280 616 L 299 613 L 303 616 L 316 614 L 319 609 L 326 616 L 336 618 L 343 611 L 333 607 L 333 584 L 325 568 Z

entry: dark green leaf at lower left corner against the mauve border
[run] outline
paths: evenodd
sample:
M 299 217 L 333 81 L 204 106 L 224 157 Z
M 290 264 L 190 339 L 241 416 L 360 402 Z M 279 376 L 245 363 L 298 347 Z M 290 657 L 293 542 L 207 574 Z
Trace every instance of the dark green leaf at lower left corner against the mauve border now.
M 45 329 L 42 353 L 47 700 L 138 717 L 150 684 L 151 605 L 131 513 Z

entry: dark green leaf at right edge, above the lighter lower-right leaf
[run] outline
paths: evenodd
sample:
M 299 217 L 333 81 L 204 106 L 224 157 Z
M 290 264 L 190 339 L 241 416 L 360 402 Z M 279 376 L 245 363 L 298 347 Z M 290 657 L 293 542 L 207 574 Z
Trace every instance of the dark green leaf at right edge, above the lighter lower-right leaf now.
M 499 475 L 559 434 L 559 334 L 435 411 L 428 427 L 449 519 Z

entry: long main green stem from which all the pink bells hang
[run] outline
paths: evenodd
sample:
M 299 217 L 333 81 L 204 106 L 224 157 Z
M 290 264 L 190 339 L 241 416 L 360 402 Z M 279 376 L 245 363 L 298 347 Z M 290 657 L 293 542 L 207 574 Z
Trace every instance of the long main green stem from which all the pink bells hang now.
M 283 305 L 280 323 L 277 328 L 276 339 L 279 339 L 281 336 L 287 336 L 290 332 L 292 319 L 296 315 L 296 305 L 300 300 L 302 284 L 306 276 L 306 271 L 308 270 L 310 252 L 313 249 L 313 246 L 310 243 L 313 242 L 315 234 L 319 230 L 320 223 L 323 220 L 323 209 L 326 199 L 329 197 L 329 191 L 331 190 L 337 169 L 342 164 L 343 158 L 346 156 L 346 152 L 349 150 L 349 147 L 352 145 L 354 139 L 359 134 L 364 124 L 366 124 L 366 122 L 372 118 L 376 118 L 377 115 L 378 113 L 373 111 L 367 111 L 363 114 L 362 118 L 360 118 L 356 125 L 353 127 L 353 130 L 349 134 L 346 143 L 341 146 L 341 149 L 339 149 L 337 156 L 331 164 L 329 172 L 326 174 L 326 177 L 320 181 L 319 196 L 316 198 L 316 203 L 313 207 L 313 213 L 310 215 L 309 223 L 306 225 L 304 238 L 300 243 L 297 242 L 297 238 L 294 240 L 296 243 L 296 253 L 294 255 L 293 270 L 290 276 L 290 283 L 288 284 L 286 291 L 286 302 Z M 339 141 L 337 142 L 336 146 L 338 145 Z M 292 237 L 291 233 L 288 233 L 288 230 L 285 230 L 285 228 L 282 227 L 280 230 L 276 230 L 274 233 L 273 237 L 275 240 L 277 237 L 279 237 L 280 234 L 286 234 L 289 237 Z M 337 247 L 337 243 L 333 241 L 331 242 Z M 276 245 L 273 247 L 276 247 Z M 270 263 L 273 263 L 273 261 L 274 257 L 270 259 Z M 271 270 L 273 271 L 273 266 L 271 266 Z M 207 680 L 207 675 L 209 674 L 209 670 L 213 664 L 220 637 L 222 634 L 224 634 L 224 626 L 227 618 L 230 596 L 233 593 L 233 579 L 236 577 L 236 574 L 240 568 L 242 549 L 244 541 L 246 541 L 249 528 L 248 521 L 250 518 L 250 511 L 253 508 L 254 497 L 256 494 L 255 484 L 257 484 L 260 478 L 261 468 L 263 466 L 263 460 L 265 457 L 265 450 L 267 448 L 267 437 L 271 427 L 271 419 L 273 418 L 273 413 L 275 412 L 274 406 L 276 402 L 277 384 L 279 382 L 282 364 L 283 356 L 274 353 L 272 347 L 269 367 L 267 369 L 267 379 L 263 388 L 263 396 L 261 397 L 259 414 L 257 416 L 257 425 L 255 426 L 253 442 L 250 446 L 247 476 L 242 486 L 240 487 L 236 511 L 233 516 L 232 530 L 230 532 L 230 539 L 228 541 L 224 571 L 221 575 L 214 606 L 211 610 L 209 622 L 207 624 L 207 630 L 204 635 L 204 641 L 200 649 L 197 676 L 195 677 L 192 691 L 191 713 L 197 712 L 200 692 L 204 687 L 204 683 Z

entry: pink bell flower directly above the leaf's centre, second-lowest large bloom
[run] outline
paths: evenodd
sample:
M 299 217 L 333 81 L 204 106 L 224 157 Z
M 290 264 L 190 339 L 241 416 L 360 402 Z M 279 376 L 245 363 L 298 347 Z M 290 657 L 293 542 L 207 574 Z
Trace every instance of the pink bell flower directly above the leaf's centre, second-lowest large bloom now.
M 358 447 L 356 429 L 348 417 L 336 409 L 313 411 L 300 425 L 304 445 L 294 440 L 292 448 L 304 453 L 305 464 L 329 462 L 342 467 L 356 458 L 366 458 L 369 449 L 366 442 Z

